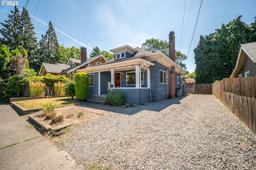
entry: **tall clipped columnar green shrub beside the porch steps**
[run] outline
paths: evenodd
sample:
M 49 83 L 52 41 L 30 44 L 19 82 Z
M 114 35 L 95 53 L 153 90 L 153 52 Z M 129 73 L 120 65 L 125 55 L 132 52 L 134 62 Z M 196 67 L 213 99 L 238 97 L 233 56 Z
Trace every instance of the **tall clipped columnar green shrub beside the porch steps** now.
M 77 72 L 75 76 L 75 92 L 77 100 L 86 100 L 89 92 L 88 74 Z

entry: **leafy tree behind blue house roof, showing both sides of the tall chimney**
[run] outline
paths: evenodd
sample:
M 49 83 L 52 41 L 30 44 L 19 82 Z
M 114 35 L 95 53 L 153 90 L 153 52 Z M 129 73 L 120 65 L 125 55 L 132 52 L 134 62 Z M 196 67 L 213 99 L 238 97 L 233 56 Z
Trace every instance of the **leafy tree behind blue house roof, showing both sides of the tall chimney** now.
M 169 56 L 169 43 L 166 40 L 159 41 L 159 39 L 154 38 L 147 39 L 146 42 L 142 44 L 141 48 L 150 53 L 161 51 L 166 56 Z M 180 51 L 175 50 L 175 62 L 185 71 L 187 71 L 187 67 L 184 61 L 187 58 L 188 57 L 186 55 L 182 54 Z

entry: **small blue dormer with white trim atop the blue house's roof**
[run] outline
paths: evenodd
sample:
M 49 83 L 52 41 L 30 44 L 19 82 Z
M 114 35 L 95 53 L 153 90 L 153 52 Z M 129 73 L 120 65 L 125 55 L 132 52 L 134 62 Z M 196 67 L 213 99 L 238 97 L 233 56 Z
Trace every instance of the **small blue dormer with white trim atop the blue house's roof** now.
M 138 53 L 138 50 L 130 47 L 129 45 L 125 45 L 116 49 L 112 49 L 110 52 L 114 53 L 114 59 L 116 61 L 119 59 L 127 59 L 133 57 L 136 53 Z

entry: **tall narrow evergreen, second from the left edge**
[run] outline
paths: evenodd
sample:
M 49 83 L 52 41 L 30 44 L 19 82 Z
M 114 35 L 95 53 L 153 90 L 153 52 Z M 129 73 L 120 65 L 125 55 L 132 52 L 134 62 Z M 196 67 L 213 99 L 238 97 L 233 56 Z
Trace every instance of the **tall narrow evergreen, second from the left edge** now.
M 28 10 L 23 7 L 21 13 L 21 39 L 22 47 L 28 51 L 28 61 L 31 68 L 36 66 L 37 41 L 34 32 L 34 25 L 31 21 Z

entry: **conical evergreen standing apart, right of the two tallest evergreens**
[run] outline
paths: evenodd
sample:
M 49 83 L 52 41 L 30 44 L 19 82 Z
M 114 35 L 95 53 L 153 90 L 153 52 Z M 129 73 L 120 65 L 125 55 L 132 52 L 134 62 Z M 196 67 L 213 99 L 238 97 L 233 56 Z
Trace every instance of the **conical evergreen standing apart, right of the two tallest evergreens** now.
M 35 70 L 38 72 L 42 63 L 56 64 L 59 62 L 59 43 L 52 26 L 52 22 L 49 22 L 49 29 L 45 35 L 42 35 L 42 39 L 39 41 L 38 58 L 36 60 Z

